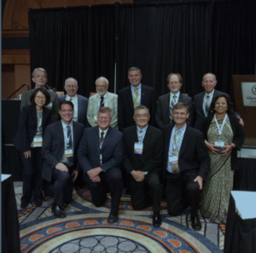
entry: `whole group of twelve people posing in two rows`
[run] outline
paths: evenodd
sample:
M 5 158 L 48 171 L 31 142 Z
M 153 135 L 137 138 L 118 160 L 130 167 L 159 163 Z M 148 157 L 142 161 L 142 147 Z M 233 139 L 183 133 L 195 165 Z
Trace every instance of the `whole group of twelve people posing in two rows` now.
M 225 223 L 237 150 L 245 138 L 230 96 L 214 89 L 212 73 L 203 76 L 205 91 L 194 100 L 180 92 L 181 75 L 169 74 L 170 92 L 157 103 L 137 67 L 128 70 L 128 79 L 131 85 L 114 95 L 108 79 L 97 78 L 96 95 L 88 100 L 77 94 L 77 80 L 67 78 L 67 95 L 58 98 L 45 89 L 45 70 L 32 72 L 36 87 L 21 97 L 14 139 L 24 164 L 20 207 L 27 206 L 32 191 L 41 206 L 44 189 L 54 197 L 53 214 L 64 218 L 73 182 L 82 177 L 96 207 L 110 193 L 109 223 L 118 221 L 124 185 L 134 210 L 153 206 L 154 227 L 161 225 L 163 196 L 171 216 L 190 206 L 195 230 L 201 230 L 200 202 L 203 216 Z

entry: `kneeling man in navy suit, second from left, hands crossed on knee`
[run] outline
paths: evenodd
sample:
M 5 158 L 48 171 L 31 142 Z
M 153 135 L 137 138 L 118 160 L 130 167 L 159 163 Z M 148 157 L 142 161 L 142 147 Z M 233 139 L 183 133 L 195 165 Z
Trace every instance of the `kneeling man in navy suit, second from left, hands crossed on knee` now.
M 91 199 L 96 207 L 105 203 L 109 190 L 111 212 L 108 223 L 116 223 L 123 190 L 120 166 L 124 159 L 124 143 L 123 134 L 110 127 L 111 121 L 111 109 L 100 107 L 99 125 L 84 129 L 79 146 L 79 164 L 84 172 L 84 181 L 90 185 Z

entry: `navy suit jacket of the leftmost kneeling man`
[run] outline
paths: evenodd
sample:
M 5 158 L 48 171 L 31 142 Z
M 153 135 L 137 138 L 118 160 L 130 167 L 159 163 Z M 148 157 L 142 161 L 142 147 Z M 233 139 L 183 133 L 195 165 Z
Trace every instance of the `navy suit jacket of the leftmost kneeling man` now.
M 79 170 L 78 149 L 84 132 L 84 125 L 73 121 L 73 170 Z M 61 120 L 49 124 L 45 129 L 42 155 L 44 158 L 42 176 L 51 181 L 52 170 L 59 164 L 64 153 L 64 133 Z

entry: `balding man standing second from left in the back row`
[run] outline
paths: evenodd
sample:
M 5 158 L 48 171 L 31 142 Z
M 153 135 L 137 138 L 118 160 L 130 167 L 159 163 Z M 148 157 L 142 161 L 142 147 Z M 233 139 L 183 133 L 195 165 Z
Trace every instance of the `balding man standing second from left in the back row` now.
M 59 101 L 72 101 L 74 107 L 73 121 L 84 125 L 84 128 L 90 127 L 86 118 L 88 99 L 82 95 L 78 95 L 78 81 L 74 78 L 67 78 L 64 89 L 67 95 L 61 95 Z

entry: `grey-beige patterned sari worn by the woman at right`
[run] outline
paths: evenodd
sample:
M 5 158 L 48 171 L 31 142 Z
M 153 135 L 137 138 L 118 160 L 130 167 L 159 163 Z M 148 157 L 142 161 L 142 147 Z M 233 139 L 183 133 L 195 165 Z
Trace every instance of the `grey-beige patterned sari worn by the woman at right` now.
M 218 120 L 219 125 L 222 123 L 223 120 Z M 218 128 L 215 122 L 211 123 L 207 136 L 209 143 L 218 140 Z M 233 131 L 228 117 L 220 138 L 224 141 L 224 145 L 232 143 Z M 234 179 L 234 171 L 231 170 L 231 152 L 224 157 L 209 152 L 209 156 L 211 167 L 202 191 L 201 213 L 212 222 L 225 224 Z

